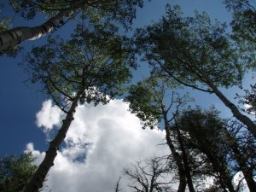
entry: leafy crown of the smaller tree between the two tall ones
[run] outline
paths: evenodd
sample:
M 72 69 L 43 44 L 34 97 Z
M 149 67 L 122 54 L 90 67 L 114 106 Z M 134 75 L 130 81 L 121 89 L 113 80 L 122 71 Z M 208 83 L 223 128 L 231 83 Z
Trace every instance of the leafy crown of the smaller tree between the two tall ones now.
M 164 113 L 169 113 L 167 116 L 172 119 L 172 113 L 190 101 L 189 96 L 179 96 L 173 92 L 175 86 L 172 80 L 159 74 L 152 74 L 148 79 L 131 85 L 125 102 L 129 102 L 131 113 L 136 113 L 142 120 L 143 128 L 148 126 L 153 129 L 163 120 Z

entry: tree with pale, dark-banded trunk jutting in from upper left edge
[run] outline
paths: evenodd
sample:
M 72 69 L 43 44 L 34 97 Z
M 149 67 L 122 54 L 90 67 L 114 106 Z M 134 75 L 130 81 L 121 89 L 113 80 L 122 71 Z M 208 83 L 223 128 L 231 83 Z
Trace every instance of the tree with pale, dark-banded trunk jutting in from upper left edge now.
M 49 19 L 39 26 L 20 26 L 1 32 L 0 51 L 20 44 L 22 41 L 40 38 L 76 15 L 86 18 L 95 26 L 102 21 L 115 20 L 128 27 L 136 16 L 137 6 L 143 7 L 143 0 L 10 0 L 10 3 L 25 19 L 33 19 L 38 12 L 49 15 Z

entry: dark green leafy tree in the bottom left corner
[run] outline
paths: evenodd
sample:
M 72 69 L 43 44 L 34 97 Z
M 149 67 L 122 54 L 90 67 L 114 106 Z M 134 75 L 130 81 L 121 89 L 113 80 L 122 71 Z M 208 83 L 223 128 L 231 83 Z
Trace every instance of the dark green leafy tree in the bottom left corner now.
M 23 191 L 37 166 L 32 154 L 8 155 L 0 158 L 0 191 Z

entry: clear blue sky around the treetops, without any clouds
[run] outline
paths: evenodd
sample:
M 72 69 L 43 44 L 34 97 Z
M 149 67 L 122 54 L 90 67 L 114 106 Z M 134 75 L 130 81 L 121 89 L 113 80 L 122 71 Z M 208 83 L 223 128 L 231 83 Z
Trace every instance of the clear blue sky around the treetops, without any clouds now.
M 221 21 L 230 20 L 230 13 L 226 11 L 221 0 L 152 0 L 145 2 L 143 9 L 138 9 L 137 19 L 134 20 L 134 28 L 142 27 L 159 20 L 165 14 L 165 5 L 179 4 L 185 15 L 193 15 L 194 10 L 207 11 L 213 19 Z M 22 20 L 19 15 L 11 12 L 11 9 L 3 9 L 3 15 L 14 16 L 13 26 L 37 26 L 44 20 L 44 17 L 37 17 L 37 20 Z M 61 27 L 58 34 L 67 35 L 71 30 L 71 23 Z M 36 41 L 22 43 L 27 50 L 32 45 L 42 44 L 46 37 Z M 0 58 L 0 155 L 20 154 L 28 142 L 35 143 L 39 149 L 46 148 L 44 133 L 35 125 L 35 114 L 40 110 L 46 96 L 40 93 L 39 84 L 26 82 L 27 75 L 18 63 L 22 62 L 21 54 L 15 59 Z M 136 75 L 139 79 L 145 76 L 143 70 L 138 70 Z M 197 93 L 195 93 L 197 94 Z M 198 93 L 201 96 L 201 93 Z M 197 96 L 197 95 L 196 95 Z M 213 104 L 213 103 L 212 103 Z

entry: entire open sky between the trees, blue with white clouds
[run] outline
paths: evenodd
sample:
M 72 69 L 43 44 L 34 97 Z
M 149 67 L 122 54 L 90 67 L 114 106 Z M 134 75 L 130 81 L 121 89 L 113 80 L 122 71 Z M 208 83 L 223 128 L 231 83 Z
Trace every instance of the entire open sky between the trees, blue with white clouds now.
M 166 3 L 179 4 L 185 15 L 193 15 L 198 9 L 207 11 L 212 19 L 230 20 L 230 13 L 221 0 L 152 0 L 145 2 L 143 9 L 137 10 L 133 27 L 143 27 L 159 20 L 165 13 Z M 42 16 L 32 21 L 21 20 L 11 9 L 3 9 L 3 14 L 15 16 L 13 26 L 36 26 L 44 20 Z M 66 36 L 70 30 L 67 25 L 55 33 Z M 32 45 L 43 44 L 45 39 L 22 45 L 29 49 Z M 40 84 L 27 81 L 19 63 L 22 63 L 21 55 L 15 59 L 0 58 L 0 156 L 30 151 L 38 157 L 36 163 L 39 163 L 50 138 L 61 125 L 63 114 L 47 96 L 42 95 Z M 146 76 L 145 71 L 135 72 L 136 78 Z M 251 79 L 246 84 L 250 82 Z M 225 90 L 225 94 L 233 98 L 236 91 Z M 230 115 L 217 97 L 198 91 L 193 91 L 192 95 L 196 104 L 205 108 L 215 105 L 225 115 Z M 128 104 L 121 99 L 96 108 L 81 105 L 57 155 L 55 166 L 49 172 L 45 191 L 113 191 L 119 176 L 122 176 L 123 167 L 136 160 L 169 153 L 165 146 L 159 145 L 163 143 L 164 135 L 160 130 L 142 130 L 139 120 L 128 111 Z M 123 186 L 129 182 L 122 177 Z

